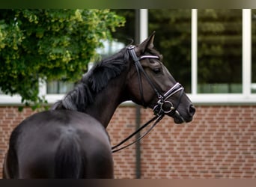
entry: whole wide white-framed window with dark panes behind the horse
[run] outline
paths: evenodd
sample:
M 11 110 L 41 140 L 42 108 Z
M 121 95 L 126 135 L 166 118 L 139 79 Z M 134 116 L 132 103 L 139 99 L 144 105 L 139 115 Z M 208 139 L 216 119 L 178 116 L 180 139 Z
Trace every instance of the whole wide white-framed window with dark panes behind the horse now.
M 114 40 L 104 42 L 105 49 L 98 49 L 103 58 L 156 31 L 156 49 L 192 102 L 256 103 L 256 10 L 114 11 L 127 22 L 112 34 Z M 41 86 L 40 94 L 52 103 L 73 86 L 49 82 Z M 0 96 L 0 104 L 19 102 L 19 96 Z

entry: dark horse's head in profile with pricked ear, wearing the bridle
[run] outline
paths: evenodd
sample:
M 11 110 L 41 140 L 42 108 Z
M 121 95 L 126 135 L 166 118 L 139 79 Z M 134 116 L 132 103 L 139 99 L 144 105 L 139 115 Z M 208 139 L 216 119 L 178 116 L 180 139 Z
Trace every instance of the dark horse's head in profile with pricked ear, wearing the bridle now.
M 156 115 L 168 115 L 175 123 L 192 120 L 195 107 L 180 83 L 162 63 L 162 55 L 154 49 L 155 33 L 138 46 L 129 46 L 132 61 L 127 87 L 130 99 L 153 109 Z

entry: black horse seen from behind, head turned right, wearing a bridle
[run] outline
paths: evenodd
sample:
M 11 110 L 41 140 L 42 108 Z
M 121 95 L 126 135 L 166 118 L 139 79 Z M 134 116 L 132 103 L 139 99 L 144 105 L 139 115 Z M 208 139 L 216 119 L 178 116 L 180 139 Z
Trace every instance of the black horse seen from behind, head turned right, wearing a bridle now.
M 132 100 L 189 122 L 195 108 L 153 49 L 154 33 L 97 63 L 51 110 L 31 115 L 10 135 L 4 178 L 113 178 L 106 127 Z

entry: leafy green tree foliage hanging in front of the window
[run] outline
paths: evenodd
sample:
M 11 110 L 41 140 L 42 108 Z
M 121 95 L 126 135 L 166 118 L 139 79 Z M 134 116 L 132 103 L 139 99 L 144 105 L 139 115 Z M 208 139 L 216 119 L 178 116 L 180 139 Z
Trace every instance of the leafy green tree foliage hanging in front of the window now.
M 124 17 L 110 10 L 0 10 L 0 89 L 45 102 L 39 80 L 77 81 Z

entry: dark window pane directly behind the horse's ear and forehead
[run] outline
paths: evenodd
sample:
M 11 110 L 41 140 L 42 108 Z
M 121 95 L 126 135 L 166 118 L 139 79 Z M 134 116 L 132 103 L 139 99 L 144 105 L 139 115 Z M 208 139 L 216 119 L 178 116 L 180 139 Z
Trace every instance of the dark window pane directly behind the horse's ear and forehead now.
M 191 93 L 191 10 L 150 9 L 149 34 L 174 78 Z

